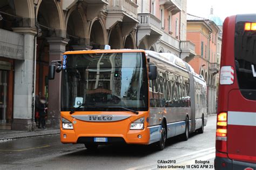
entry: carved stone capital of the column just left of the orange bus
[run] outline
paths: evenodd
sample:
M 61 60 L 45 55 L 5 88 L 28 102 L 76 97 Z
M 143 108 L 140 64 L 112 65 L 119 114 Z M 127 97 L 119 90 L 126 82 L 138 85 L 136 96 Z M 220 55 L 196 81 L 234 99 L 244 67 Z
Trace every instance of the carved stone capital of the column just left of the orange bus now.
M 69 43 L 69 39 L 62 37 L 47 37 L 49 43 L 49 54 L 50 55 L 61 55 L 66 51 L 66 44 Z

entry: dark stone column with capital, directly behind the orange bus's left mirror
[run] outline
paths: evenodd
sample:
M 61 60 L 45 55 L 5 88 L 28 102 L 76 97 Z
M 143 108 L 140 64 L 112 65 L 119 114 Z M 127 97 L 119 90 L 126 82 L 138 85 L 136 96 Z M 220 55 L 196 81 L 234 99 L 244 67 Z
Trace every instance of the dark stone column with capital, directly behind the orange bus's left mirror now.
M 62 59 L 66 44 L 69 39 L 60 37 L 47 38 L 49 43 L 49 62 Z M 49 64 L 50 64 L 49 63 Z M 49 100 L 48 100 L 48 127 L 59 128 L 60 120 L 60 87 L 61 72 L 55 73 L 55 79 L 49 80 Z

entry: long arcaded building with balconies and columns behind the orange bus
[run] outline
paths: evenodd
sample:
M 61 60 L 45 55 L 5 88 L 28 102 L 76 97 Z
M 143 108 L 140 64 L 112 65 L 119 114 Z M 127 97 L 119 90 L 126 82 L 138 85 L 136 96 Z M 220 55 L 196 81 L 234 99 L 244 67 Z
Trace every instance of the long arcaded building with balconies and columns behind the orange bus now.
M 0 3 L 0 128 L 35 129 L 36 96 L 59 127 L 60 74 L 48 66 L 68 50 L 151 49 L 194 57 L 186 0 L 3 0 Z

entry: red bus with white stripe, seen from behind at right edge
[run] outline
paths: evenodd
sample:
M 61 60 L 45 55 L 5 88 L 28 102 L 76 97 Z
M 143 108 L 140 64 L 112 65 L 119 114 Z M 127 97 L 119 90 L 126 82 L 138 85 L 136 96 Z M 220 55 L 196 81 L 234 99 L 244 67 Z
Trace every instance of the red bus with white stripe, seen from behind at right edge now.
M 216 169 L 256 169 L 256 14 L 223 25 Z

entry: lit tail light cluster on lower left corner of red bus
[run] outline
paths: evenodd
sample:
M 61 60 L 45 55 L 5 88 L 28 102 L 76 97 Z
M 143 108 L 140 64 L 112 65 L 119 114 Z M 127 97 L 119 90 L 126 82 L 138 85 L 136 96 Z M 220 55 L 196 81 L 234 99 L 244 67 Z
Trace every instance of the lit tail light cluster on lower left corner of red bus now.
M 219 152 L 227 152 L 227 112 L 217 115 L 216 149 Z

